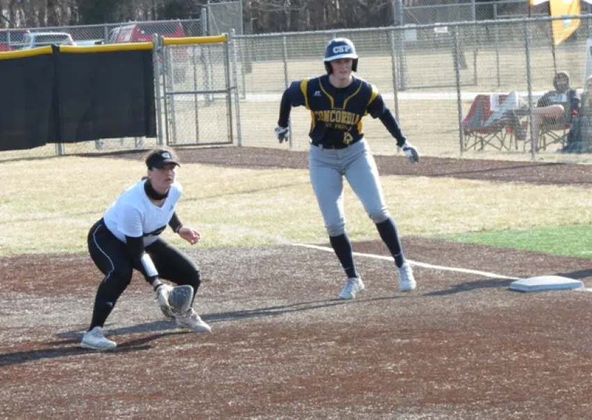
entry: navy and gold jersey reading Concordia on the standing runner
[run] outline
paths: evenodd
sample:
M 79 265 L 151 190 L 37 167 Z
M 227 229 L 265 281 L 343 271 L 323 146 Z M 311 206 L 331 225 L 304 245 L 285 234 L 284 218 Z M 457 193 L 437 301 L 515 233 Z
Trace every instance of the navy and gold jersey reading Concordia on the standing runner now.
M 328 75 L 294 81 L 283 98 L 288 98 L 293 107 L 304 106 L 311 111 L 311 142 L 327 148 L 345 148 L 364 137 L 361 119 L 367 114 L 373 118 L 385 113 L 391 116 L 376 86 L 357 77 L 346 88 L 335 88 Z M 287 126 L 287 118 L 282 126 Z

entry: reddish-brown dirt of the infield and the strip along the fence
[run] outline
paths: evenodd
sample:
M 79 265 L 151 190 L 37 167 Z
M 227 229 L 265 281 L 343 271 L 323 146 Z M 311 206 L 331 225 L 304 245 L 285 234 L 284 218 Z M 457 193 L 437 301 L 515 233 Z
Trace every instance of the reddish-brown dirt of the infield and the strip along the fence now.
M 306 154 L 267 149 L 180 157 L 306 167 Z M 400 159 L 377 157 L 383 174 L 589 185 L 584 166 Z M 163 320 L 136 276 L 106 325 L 118 349 L 95 352 L 78 347 L 100 281 L 88 256 L 0 258 L 0 418 L 592 418 L 592 293 L 517 293 L 505 278 L 559 274 L 590 287 L 591 260 L 426 238 L 403 246 L 414 261 L 499 277 L 416 266 L 418 289 L 403 294 L 394 263 L 357 256 L 367 290 L 343 302 L 329 252 L 196 249 L 196 309 L 212 334 Z M 387 255 L 382 242 L 355 251 Z

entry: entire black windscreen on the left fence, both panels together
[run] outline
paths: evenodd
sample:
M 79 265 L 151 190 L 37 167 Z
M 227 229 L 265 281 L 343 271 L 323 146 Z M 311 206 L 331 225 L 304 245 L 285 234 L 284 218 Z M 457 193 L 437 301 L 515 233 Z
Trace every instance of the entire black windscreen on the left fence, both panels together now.
M 156 137 L 151 50 L 0 60 L 0 150 Z

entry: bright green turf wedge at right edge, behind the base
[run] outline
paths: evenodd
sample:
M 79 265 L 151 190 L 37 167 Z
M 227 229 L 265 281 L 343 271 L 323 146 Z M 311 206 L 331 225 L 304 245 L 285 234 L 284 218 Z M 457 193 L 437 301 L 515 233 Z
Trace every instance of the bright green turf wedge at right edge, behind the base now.
M 526 231 L 474 232 L 437 237 L 470 244 L 592 258 L 592 226 L 589 225 L 550 226 Z

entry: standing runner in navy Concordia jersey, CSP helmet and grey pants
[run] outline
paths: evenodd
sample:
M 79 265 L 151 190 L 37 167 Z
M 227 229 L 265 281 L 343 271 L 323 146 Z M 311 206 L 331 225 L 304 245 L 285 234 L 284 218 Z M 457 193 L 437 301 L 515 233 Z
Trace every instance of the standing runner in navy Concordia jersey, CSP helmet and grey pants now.
M 380 118 L 411 162 L 419 162 L 419 153 L 405 139 L 376 86 L 352 75 L 357 70 L 358 56 L 350 40 L 330 40 L 324 61 L 327 75 L 294 81 L 283 93 L 276 137 L 280 143 L 288 139 L 292 107 L 304 105 L 311 111 L 311 183 L 329 241 L 348 277 L 339 298 L 352 299 L 364 290 L 354 263 L 352 244 L 345 233 L 344 176 L 395 259 L 399 290 L 413 290 L 416 286 L 413 272 L 405 261 L 396 226 L 384 203 L 376 164 L 364 139 L 361 118 L 366 114 Z

